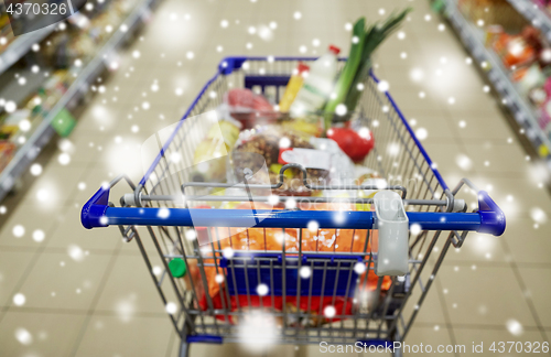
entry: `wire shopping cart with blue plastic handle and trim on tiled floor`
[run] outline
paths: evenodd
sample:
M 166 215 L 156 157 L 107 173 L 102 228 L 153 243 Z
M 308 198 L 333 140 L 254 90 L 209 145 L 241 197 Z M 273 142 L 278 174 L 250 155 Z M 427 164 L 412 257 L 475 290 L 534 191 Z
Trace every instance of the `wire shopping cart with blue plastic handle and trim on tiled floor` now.
M 315 186 L 306 180 L 306 170 L 295 164 L 284 165 L 280 178 L 285 170 L 299 169 L 304 185 L 312 190 L 376 190 L 393 198 L 398 196 L 393 215 L 401 214 L 396 224 L 402 232 L 406 223 L 404 272 L 391 277 L 374 274 L 381 252 L 374 250 L 370 238 L 382 229 L 383 217 L 378 209 L 350 208 L 370 204 L 377 207 L 378 201 L 372 196 L 300 197 L 346 202 L 352 206 L 339 212 L 345 219 L 334 219 L 335 212 L 301 210 L 296 205 L 287 209 L 256 209 L 255 205 L 248 210 L 188 208 L 205 203 L 216 206 L 223 201 L 270 201 L 271 196 L 252 197 L 253 188 L 262 185 L 247 184 L 247 174 L 244 182 L 234 184 L 247 192 L 242 197 L 208 191 L 231 184 L 193 182 L 186 167 L 192 162 L 191 153 L 208 130 L 206 121 L 197 118 L 216 109 L 231 87 L 262 91 L 278 100 L 298 62 L 313 60 L 272 56 L 223 60 L 216 75 L 170 136 L 156 137 L 162 149 L 140 183 L 134 186 L 120 176 L 101 187 L 83 207 L 84 227 L 116 225 L 126 241 L 136 240 L 181 338 L 181 356 L 187 355 L 192 343 L 250 342 L 239 325 L 255 311 L 274 318 L 277 328 L 271 337 L 280 344 L 359 343 L 366 348 L 403 342 L 450 246 L 460 248 L 468 231 L 499 236 L 505 230 L 505 215 L 486 192 L 478 191 L 468 180 L 454 190 L 449 188 L 393 99 L 377 88 L 378 79 L 372 74 L 365 83 L 354 117 L 363 120 L 375 137 L 375 149 L 364 165 L 375 169 L 387 184 Z M 170 160 L 174 153 L 183 159 Z M 115 207 L 109 194 L 121 187 L 115 187 L 121 180 L 128 182 L 132 192 L 122 195 L 121 207 Z M 393 182 L 407 184 L 391 185 Z M 263 187 L 279 186 L 271 183 Z M 193 195 L 196 192 L 203 194 Z M 279 197 L 285 203 L 296 198 Z M 467 213 L 467 207 L 472 212 Z M 251 219 L 253 229 L 263 231 L 264 239 L 274 229 L 283 235 L 293 232 L 298 248 L 285 247 L 285 238 L 279 251 L 234 247 L 227 253 L 227 241 L 237 235 L 231 229 L 245 227 L 238 231 L 248 235 L 252 232 L 247 229 L 252 227 Z M 316 245 L 303 250 L 302 241 L 312 229 L 312 221 L 316 223 L 316 232 L 333 229 L 338 236 L 338 231 L 347 231 L 354 239 L 361 235 L 363 247 L 327 251 Z M 228 231 L 225 237 L 229 238 L 217 237 L 219 231 Z M 150 235 L 151 239 L 142 235 Z M 400 346 L 392 346 L 393 355 L 400 355 Z

